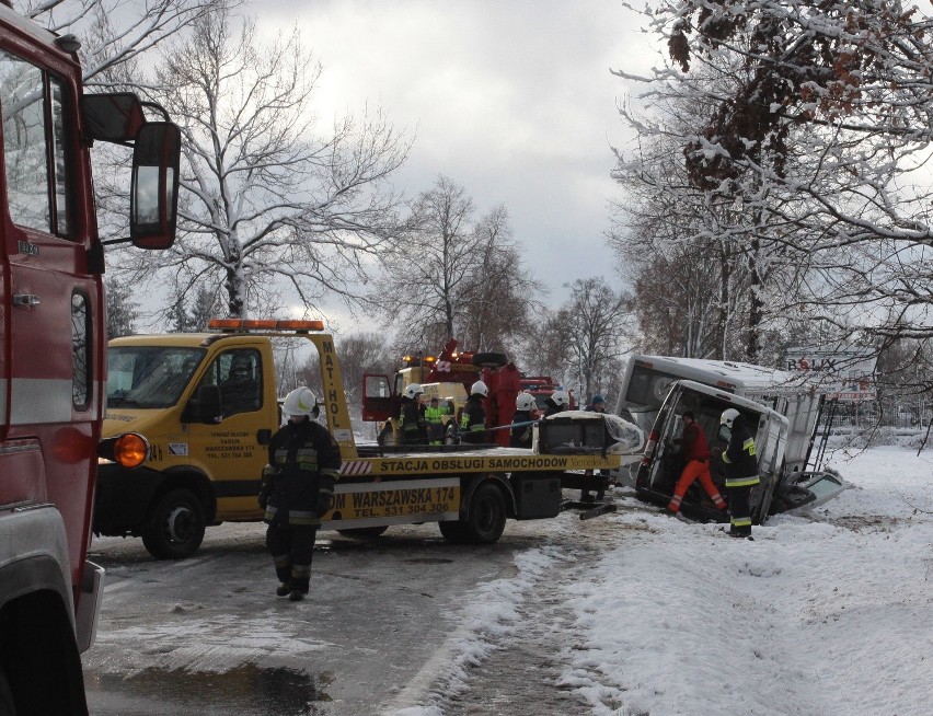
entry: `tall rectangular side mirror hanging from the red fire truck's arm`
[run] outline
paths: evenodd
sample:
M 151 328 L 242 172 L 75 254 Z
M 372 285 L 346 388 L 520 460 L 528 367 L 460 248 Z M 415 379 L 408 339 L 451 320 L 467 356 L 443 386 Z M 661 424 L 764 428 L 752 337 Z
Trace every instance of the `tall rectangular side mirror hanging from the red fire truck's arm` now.
M 175 242 L 182 132 L 171 122 L 139 129 L 133 151 L 129 238 L 139 249 L 168 249 Z

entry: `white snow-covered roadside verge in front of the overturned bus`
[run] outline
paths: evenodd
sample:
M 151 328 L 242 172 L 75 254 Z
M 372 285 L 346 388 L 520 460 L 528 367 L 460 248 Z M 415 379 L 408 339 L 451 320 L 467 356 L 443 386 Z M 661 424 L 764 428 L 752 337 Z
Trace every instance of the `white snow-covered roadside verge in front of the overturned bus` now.
M 586 578 L 554 584 L 567 555 L 553 544 L 517 554 L 516 576 L 471 596 L 419 705 L 391 713 L 447 713 L 451 694 L 470 690 L 471 667 L 541 628 L 521 608 L 544 586 L 568 608 L 545 625 L 566 645 L 553 655 L 557 685 L 592 714 L 933 713 L 929 455 L 837 452 L 829 464 L 851 487 L 771 518 L 755 541 L 682 523 L 618 489 L 620 511 L 599 518 L 608 548 Z

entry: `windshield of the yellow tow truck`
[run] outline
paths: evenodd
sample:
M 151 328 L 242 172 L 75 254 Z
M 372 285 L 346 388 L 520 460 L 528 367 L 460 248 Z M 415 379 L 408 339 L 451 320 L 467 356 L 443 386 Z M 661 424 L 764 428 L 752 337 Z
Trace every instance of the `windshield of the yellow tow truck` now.
M 204 354 L 204 348 L 112 346 L 107 357 L 107 407 L 175 405 Z

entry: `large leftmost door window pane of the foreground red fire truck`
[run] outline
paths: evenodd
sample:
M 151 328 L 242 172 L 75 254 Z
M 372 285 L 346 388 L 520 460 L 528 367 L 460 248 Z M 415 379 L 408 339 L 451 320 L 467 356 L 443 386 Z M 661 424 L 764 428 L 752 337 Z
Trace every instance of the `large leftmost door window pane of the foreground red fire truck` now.
M 4 51 L 0 51 L 0 107 L 10 217 L 19 226 L 50 231 L 42 70 Z

